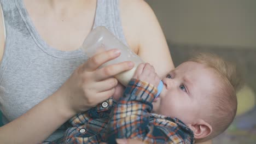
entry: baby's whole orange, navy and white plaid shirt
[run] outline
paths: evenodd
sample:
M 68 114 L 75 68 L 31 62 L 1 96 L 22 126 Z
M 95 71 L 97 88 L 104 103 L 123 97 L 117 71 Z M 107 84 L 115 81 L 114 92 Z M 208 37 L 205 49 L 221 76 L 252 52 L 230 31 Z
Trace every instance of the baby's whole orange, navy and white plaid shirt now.
M 193 131 L 179 119 L 149 113 L 156 93 L 153 85 L 132 79 L 117 104 L 110 98 L 106 101 L 108 107 L 99 104 L 74 116 L 65 136 L 52 143 L 115 143 L 117 138 L 144 143 L 194 143 Z

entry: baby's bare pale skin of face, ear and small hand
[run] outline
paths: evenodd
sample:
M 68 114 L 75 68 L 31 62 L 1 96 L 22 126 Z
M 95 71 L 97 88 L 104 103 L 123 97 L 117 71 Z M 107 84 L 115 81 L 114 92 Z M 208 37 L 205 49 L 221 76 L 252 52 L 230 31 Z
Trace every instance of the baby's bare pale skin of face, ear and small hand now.
M 149 63 L 139 64 L 132 78 L 155 87 L 160 82 Z M 188 61 L 170 71 L 162 82 L 164 87 L 152 103 L 152 112 L 180 119 L 193 131 L 195 139 L 210 135 L 212 126 L 205 121 L 204 115 L 211 104 L 205 99 L 213 97 L 211 92 L 218 91 L 213 87 L 219 83 L 216 73 L 204 64 Z

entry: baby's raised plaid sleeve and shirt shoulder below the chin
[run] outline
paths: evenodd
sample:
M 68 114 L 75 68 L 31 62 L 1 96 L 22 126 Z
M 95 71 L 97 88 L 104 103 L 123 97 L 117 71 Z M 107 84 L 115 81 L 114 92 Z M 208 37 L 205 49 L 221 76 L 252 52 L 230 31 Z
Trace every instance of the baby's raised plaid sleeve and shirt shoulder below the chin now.
M 150 114 L 157 89 L 132 79 L 110 114 L 108 143 L 117 138 L 139 139 L 144 143 L 194 143 L 193 131 L 177 118 Z

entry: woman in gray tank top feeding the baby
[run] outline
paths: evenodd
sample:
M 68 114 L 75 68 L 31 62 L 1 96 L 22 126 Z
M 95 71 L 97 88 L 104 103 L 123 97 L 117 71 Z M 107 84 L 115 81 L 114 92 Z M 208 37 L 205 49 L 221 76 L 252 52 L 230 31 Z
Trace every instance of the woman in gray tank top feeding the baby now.
M 120 55 L 114 50 L 86 61 L 78 47 L 96 26 L 106 26 L 160 76 L 174 68 L 159 23 L 142 0 L 1 0 L 1 5 L 1 143 L 57 139 L 75 113 L 114 94 L 112 76 L 133 65 L 97 69 Z

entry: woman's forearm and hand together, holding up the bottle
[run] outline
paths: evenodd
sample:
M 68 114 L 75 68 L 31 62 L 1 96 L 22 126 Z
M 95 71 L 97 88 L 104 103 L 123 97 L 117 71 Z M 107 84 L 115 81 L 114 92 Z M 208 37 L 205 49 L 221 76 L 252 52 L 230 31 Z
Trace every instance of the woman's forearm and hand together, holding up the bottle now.
M 132 69 L 133 63 L 99 67 L 119 55 L 117 50 L 98 53 L 80 65 L 54 94 L 1 127 L 0 143 L 40 143 L 76 113 L 111 97 L 118 83 L 113 76 Z

